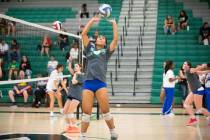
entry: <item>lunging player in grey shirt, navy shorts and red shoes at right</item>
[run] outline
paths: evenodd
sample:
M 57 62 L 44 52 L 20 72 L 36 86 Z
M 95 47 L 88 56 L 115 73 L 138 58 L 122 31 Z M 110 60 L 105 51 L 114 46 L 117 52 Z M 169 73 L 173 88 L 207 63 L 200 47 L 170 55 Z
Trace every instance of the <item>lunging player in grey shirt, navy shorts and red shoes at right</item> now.
M 193 108 L 191 105 L 194 103 L 195 107 L 198 112 L 201 112 L 204 116 L 210 117 L 210 113 L 208 110 L 203 108 L 203 95 L 205 93 L 204 88 L 202 87 L 197 73 L 201 70 L 201 67 L 198 68 L 192 68 L 192 65 L 190 62 L 184 62 L 184 71 L 186 74 L 186 78 L 189 84 L 189 87 L 191 89 L 191 92 L 188 94 L 185 102 L 184 102 L 184 108 L 190 115 L 190 118 L 187 122 L 187 126 L 195 125 L 198 123 L 198 120 L 196 119 Z M 210 122 L 208 122 L 208 125 L 210 125 Z

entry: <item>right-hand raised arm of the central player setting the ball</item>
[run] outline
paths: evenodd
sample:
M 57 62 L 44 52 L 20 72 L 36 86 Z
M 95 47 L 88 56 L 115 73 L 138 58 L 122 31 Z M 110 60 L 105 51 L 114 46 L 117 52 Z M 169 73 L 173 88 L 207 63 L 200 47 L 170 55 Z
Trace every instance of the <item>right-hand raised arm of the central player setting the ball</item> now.
M 118 42 L 118 29 L 117 29 L 117 23 L 115 20 L 109 20 L 110 23 L 112 23 L 113 27 L 113 40 L 110 44 L 109 50 L 112 52 L 115 50 L 117 47 L 117 42 Z

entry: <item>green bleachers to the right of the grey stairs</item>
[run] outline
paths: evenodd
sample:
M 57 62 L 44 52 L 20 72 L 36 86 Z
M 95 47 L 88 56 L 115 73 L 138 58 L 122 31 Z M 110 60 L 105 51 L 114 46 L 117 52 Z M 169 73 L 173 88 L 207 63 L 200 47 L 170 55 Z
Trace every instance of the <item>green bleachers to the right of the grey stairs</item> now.
M 194 66 L 210 60 L 210 48 L 198 44 L 198 34 L 202 25 L 202 19 L 194 18 L 191 10 L 184 9 L 189 17 L 189 31 L 178 31 L 176 35 L 164 34 L 165 17 L 171 15 L 177 23 L 177 17 L 182 9 L 183 4 L 176 3 L 175 0 L 159 0 L 151 103 L 160 103 L 162 67 L 165 60 L 170 59 L 174 61 L 176 75 L 186 60 L 191 61 Z M 176 86 L 175 91 L 175 103 L 181 103 L 181 93 L 178 90 L 178 86 Z

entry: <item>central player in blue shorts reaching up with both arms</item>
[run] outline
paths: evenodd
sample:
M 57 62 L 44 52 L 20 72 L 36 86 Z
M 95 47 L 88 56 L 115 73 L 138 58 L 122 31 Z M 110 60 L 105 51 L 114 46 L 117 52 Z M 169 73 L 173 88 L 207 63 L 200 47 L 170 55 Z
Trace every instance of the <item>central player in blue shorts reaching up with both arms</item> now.
M 115 132 L 114 120 L 110 113 L 109 97 L 106 84 L 107 63 L 117 47 L 118 42 L 117 23 L 115 20 L 109 21 L 113 27 L 113 40 L 109 46 L 106 44 L 106 38 L 102 35 L 99 35 L 96 39 L 96 43 L 93 44 L 90 42 L 87 33 L 91 26 L 95 22 L 99 22 L 99 20 L 100 18 L 98 16 L 90 19 L 82 32 L 82 40 L 87 57 L 87 70 L 83 84 L 84 90 L 82 99 L 82 140 L 86 139 L 86 132 L 91 118 L 94 96 L 99 103 L 103 118 L 109 127 L 111 140 L 116 140 L 118 137 L 117 133 Z

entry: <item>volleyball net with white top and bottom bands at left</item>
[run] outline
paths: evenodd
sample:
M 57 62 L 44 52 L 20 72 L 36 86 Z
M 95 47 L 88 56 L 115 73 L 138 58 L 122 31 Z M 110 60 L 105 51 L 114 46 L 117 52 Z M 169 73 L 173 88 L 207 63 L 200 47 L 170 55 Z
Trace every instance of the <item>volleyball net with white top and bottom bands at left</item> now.
M 7 54 L 1 54 L 3 77 L 0 81 L 0 90 L 7 92 L 14 84 L 19 82 L 36 82 L 39 80 L 48 79 L 48 61 L 54 56 L 59 64 L 64 65 L 63 78 L 71 77 L 67 66 L 68 59 L 75 60 L 75 63 L 83 64 L 83 44 L 81 37 L 66 31 L 65 25 L 62 24 L 61 30 L 55 30 L 52 27 L 53 23 L 31 23 L 25 20 L 17 19 L 7 15 L 0 14 L 0 41 L 8 44 L 8 50 L 0 48 L 0 51 L 5 51 Z M 47 39 L 46 39 L 47 38 Z M 16 47 L 13 44 L 17 41 Z M 13 44 L 13 45 L 12 45 Z M 76 46 L 76 47 L 75 47 Z M 46 53 L 45 48 L 49 48 L 49 53 Z M 72 48 L 78 48 L 78 51 L 72 51 Z M 44 51 L 43 51 L 44 50 Z M 75 49 L 76 50 L 76 49 Z M 20 70 L 21 56 L 27 56 L 30 61 L 32 78 L 18 80 L 14 73 L 12 80 L 8 81 L 9 69 L 12 67 L 13 60 L 16 60 L 18 66 L 13 65 Z M 37 78 L 37 75 L 46 75 L 42 78 Z

